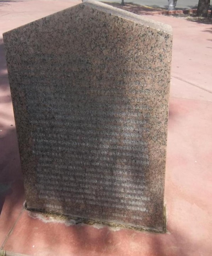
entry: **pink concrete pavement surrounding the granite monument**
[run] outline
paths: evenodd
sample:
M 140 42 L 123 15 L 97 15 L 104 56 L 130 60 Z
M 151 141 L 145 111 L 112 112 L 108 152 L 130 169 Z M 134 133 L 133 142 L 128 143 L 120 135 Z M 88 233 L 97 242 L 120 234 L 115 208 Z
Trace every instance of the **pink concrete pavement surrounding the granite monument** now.
M 212 255 L 212 25 L 173 27 L 165 201 L 167 234 L 53 220 L 23 208 L 24 191 L 2 32 L 80 1 L 0 1 L 0 246 L 8 255 Z

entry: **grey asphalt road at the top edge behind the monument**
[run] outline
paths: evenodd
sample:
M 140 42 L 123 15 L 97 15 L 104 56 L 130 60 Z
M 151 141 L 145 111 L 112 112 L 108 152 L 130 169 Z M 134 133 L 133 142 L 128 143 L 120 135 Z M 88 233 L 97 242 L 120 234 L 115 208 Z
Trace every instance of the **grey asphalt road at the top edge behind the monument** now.
M 121 0 L 101 0 L 105 2 L 121 2 Z M 168 0 L 124 0 L 124 2 L 133 2 L 134 4 L 139 5 L 148 5 L 155 7 L 168 8 Z M 197 7 L 198 0 L 178 0 L 176 9 L 190 9 Z

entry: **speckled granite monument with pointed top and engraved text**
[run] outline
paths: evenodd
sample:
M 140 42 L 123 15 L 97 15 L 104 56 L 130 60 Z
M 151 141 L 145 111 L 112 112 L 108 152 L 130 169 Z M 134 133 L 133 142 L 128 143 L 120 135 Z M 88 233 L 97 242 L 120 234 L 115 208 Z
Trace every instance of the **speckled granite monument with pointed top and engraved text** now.
M 3 37 L 27 207 L 162 231 L 171 27 L 88 1 Z

